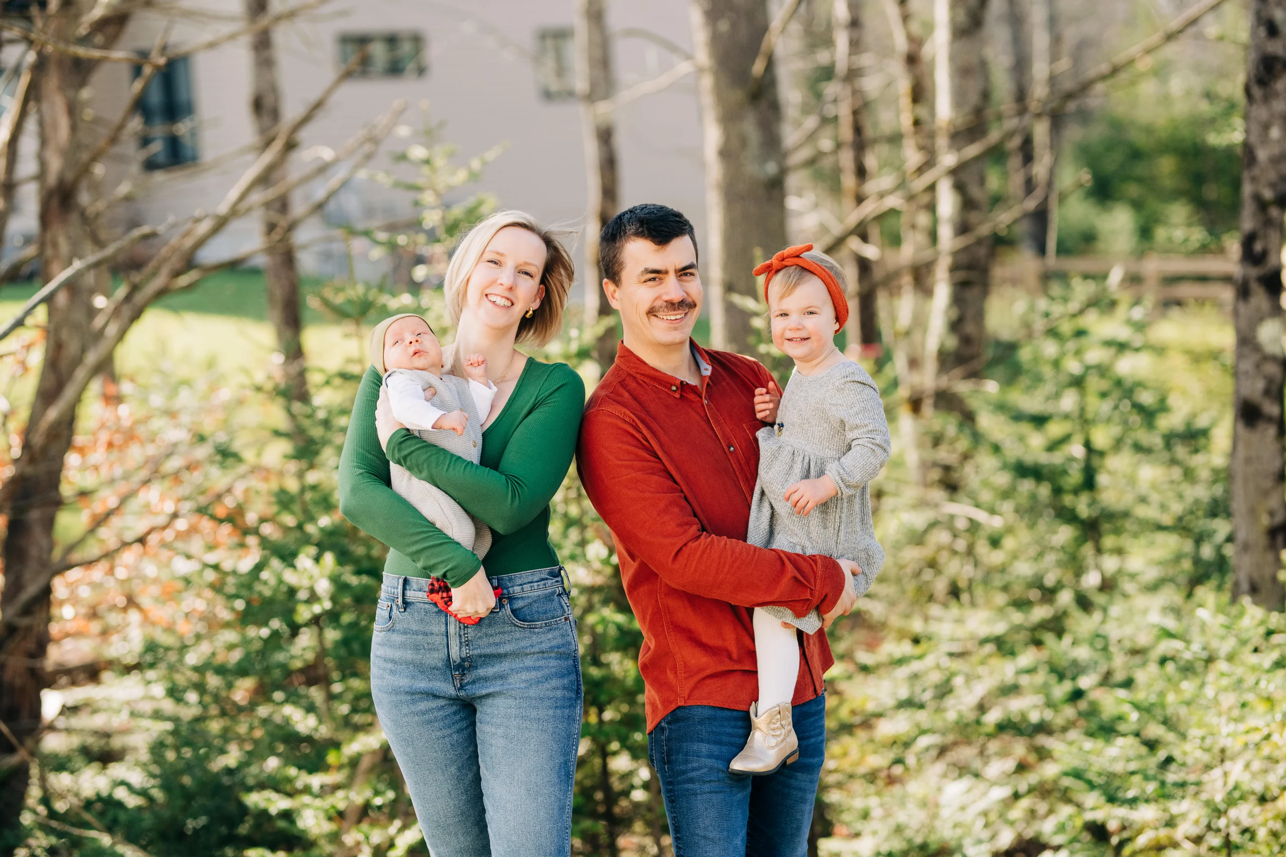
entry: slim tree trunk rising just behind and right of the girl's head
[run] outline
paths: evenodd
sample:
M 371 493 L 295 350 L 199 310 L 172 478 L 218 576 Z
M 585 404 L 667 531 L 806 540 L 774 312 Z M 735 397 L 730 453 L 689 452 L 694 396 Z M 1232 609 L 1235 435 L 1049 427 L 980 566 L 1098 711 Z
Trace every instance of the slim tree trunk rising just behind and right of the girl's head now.
M 840 155 L 840 211 L 850 212 L 863 200 L 862 185 L 869 179 L 865 103 L 853 73 L 853 58 L 862 49 L 860 0 L 835 0 L 835 84 Z M 849 279 L 847 346 L 854 356 L 880 342 L 874 267 L 871 260 L 849 245 L 840 251 L 840 263 Z

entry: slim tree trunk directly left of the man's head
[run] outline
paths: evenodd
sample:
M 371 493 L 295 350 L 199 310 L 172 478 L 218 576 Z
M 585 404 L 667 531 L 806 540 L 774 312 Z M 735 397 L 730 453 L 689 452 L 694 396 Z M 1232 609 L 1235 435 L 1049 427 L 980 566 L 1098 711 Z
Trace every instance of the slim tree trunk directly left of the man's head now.
M 612 55 L 603 14 L 603 0 L 576 0 L 576 93 L 580 96 L 585 141 L 585 326 L 593 328 L 612 316 L 603 294 L 603 269 L 598 265 L 598 235 L 619 209 L 616 180 L 616 118 L 597 112 L 594 104 L 612 96 Z M 616 325 L 608 324 L 594 344 L 599 371 L 616 360 Z

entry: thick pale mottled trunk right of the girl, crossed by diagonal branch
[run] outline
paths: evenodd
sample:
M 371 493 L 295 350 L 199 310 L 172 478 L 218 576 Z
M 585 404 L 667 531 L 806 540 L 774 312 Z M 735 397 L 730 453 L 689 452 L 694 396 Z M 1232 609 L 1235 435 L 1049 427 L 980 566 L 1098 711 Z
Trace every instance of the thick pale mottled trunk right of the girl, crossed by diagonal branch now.
M 955 114 L 981 114 L 992 98 L 986 68 L 984 24 L 988 0 L 955 0 L 952 15 L 952 90 Z M 964 122 L 971 125 L 970 122 Z M 976 143 L 986 135 L 985 123 L 974 123 L 952 136 L 953 148 Z M 990 211 L 986 190 L 986 159 L 975 158 L 955 171 L 955 234 L 963 235 L 985 222 Z M 952 256 L 952 335 L 943 367 L 964 367 L 966 376 L 983 371 L 986 355 L 986 296 L 992 280 L 994 245 L 990 235 Z M 950 398 L 950 397 L 948 397 Z

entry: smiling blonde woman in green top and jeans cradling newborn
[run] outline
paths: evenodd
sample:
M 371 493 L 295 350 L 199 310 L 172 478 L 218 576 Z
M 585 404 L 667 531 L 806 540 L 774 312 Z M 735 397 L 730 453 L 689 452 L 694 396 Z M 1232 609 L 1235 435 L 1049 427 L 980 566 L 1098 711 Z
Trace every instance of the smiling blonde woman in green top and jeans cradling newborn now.
M 361 380 L 343 446 L 341 511 L 390 549 L 370 691 L 436 857 L 571 849 L 580 659 L 548 529 L 585 388 L 566 364 L 539 362 L 514 346 L 544 344 L 559 330 L 572 272 L 562 244 L 512 211 L 475 226 L 446 269 L 446 306 L 458 322 L 444 349 L 448 371 L 463 375 L 463 355 L 482 353 L 498 388 L 480 465 L 397 424 L 374 369 Z M 394 493 L 388 461 L 494 531 L 485 569 Z M 451 608 L 477 624 L 428 601 L 430 576 L 450 585 Z

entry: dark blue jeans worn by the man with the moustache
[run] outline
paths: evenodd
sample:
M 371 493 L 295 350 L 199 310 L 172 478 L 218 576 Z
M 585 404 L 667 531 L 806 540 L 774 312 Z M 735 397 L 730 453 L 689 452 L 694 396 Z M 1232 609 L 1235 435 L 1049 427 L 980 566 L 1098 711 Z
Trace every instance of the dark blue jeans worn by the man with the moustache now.
M 750 714 L 682 705 L 647 739 L 661 775 L 674 857 L 804 857 L 826 759 L 826 695 L 791 712 L 800 757 L 777 773 L 728 773 L 746 745 Z

